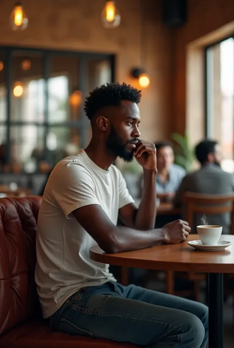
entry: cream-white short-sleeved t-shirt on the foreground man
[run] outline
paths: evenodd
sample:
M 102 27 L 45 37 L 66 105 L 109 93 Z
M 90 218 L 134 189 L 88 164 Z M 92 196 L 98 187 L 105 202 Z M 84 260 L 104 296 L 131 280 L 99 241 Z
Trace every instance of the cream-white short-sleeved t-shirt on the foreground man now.
M 97 243 L 72 212 L 99 204 L 116 225 L 118 209 L 132 202 L 117 167 L 98 167 L 84 150 L 55 166 L 38 217 L 35 280 L 44 318 L 79 289 L 116 281 L 109 273 L 109 265 L 89 258 L 89 249 Z

